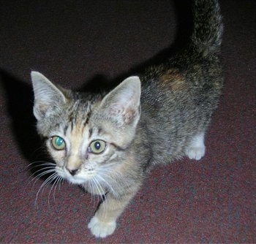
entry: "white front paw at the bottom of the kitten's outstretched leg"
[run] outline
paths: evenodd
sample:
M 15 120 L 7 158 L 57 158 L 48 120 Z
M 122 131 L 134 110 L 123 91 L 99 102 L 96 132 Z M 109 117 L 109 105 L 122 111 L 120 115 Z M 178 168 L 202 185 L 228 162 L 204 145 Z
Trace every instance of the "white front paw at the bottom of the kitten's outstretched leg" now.
M 99 218 L 94 216 L 91 218 L 91 221 L 88 224 L 88 228 L 91 229 L 91 233 L 95 235 L 95 237 L 104 238 L 113 234 L 116 229 L 116 221 L 102 222 L 99 221 Z

